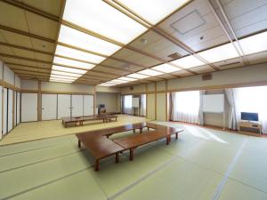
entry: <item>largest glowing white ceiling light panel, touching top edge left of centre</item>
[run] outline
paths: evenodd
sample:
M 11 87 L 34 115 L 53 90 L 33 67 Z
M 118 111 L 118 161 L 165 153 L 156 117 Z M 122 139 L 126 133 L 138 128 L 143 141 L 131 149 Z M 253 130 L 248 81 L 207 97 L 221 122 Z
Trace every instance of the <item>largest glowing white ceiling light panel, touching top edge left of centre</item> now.
M 63 20 L 128 44 L 147 28 L 101 0 L 67 1 Z

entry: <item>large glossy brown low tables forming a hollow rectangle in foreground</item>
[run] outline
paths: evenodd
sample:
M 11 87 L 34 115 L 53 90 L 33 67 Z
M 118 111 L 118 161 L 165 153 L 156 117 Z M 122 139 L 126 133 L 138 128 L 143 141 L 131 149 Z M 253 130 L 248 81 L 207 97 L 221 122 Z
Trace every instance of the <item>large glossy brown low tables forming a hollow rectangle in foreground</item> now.
M 134 131 L 147 128 L 149 132 L 143 134 L 136 134 L 130 137 L 109 140 L 109 136 L 119 132 Z M 153 131 L 150 131 L 153 129 Z M 91 153 L 95 158 L 95 171 L 99 170 L 99 161 L 107 156 L 116 157 L 116 163 L 119 161 L 119 153 L 125 150 L 130 150 L 130 160 L 134 159 L 134 149 L 144 144 L 150 143 L 155 140 L 166 138 L 166 144 L 168 145 L 171 141 L 171 136 L 175 134 L 178 139 L 178 133 L 182 132 L 182 129 L 176 129 L 173 127 L 166 127 L 158 124 L 150 123 L 138 123 L 138 124 L 127 124 L 114 128 L 102 129 L 91 132 L 77 133 L 78 147 L 81 144 Z

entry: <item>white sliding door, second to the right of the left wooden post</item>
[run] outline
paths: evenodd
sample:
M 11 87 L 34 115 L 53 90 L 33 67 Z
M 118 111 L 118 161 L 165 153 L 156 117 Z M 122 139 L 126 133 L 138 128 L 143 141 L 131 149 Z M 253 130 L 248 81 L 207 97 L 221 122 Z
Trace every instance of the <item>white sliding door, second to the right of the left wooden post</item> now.
M 70 95 L 58 94 L 58 119 L 70 116 Z

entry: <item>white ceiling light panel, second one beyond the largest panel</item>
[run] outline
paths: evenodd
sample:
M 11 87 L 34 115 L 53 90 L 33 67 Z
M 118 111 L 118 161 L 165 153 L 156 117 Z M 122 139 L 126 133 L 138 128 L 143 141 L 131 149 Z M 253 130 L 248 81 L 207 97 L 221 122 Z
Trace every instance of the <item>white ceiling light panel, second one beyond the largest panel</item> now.
M 106 59 L 106 58 L 98 56 L 98 55 L 78 51 L 78 50 L 71 49 L 71 48 L 68 48 L 66 46 L 62 46 L 59 44 L 57 45 L 55 54 L 69 57 L 69 58 L 73 58 L 73 59 L 77 59 L 77 60 L 84 60 L 84 61 L 88 61 L 88 62 L 93 62 L 93 63 L 97 63 L 97 64 L 100 63 L 102 60 Z

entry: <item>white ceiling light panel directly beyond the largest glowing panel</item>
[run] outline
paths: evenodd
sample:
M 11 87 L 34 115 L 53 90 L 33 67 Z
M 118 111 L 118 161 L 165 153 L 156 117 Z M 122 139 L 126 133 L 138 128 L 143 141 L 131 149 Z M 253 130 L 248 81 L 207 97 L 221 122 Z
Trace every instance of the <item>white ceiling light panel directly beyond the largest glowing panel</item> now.
M 107 16 L 107 13 L 105 17 L 109 18 L 109 16 Z M 111 44 L 97 37 L 90 36 L 76 29 L 66 27 L 64 25 L 61 25 L 61 31 L 60 31 L 60 36 L 59 36 L 58 41 L 61 43 L 77 46 L 79 48 L 82 48 L 82 49 L 85 49 L 91 52 L 99 52 L 101 54 L 105 54 L 108 56 L 113 54 L 114 52 L 117 52 L 117 50 L 121 48 L 120 46 L 116 44 Z

